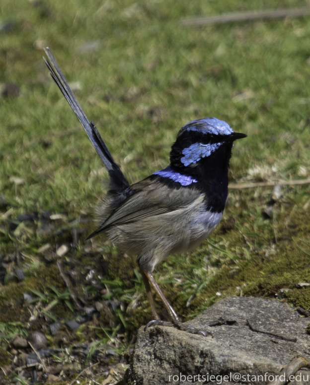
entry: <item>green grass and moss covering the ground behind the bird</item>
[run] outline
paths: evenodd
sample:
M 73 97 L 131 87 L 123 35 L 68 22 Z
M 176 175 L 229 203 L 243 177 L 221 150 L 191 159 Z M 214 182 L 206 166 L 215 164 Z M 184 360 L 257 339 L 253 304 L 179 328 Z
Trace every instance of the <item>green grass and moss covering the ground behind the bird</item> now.
M 0 33 L 0 83 L 16 83 L 20 96 L 0 98 L 0 195 L 9 203 L 0 212 L 0 254 L 13 255 L 18 248 L 30 258 L 22 258 L 24 282 L 7 277 L 0 287 L 0 307 L 25 290 L 42 291 L 42 284 L 59 293 L 66 289 L 54 264 L 37 253 L 47 242 L 55 250 L 64 238 L 40 233 L 40 220 L 11 232 L 7 219 L 45 210 L 64 213 L 67 219 L 55 228 L 69 234 L 80 213 L 92 216 L 107 176 L 83 130 L 64 133 L 79 123 L 49 77 L 44 53 L 36 48 L 41 40 L 68 81 L 79 82 L 75 94 L 82 108 L 130 182 L 165 167 L 179 128 L 203 117 L 223 119 L 248 135 L 233 148 L 231 183 L 270 176 L 301 179 L 310 175 L 310 17 L 201 28 L 180 27 L 178 20 L 306 5 L 302 0 L 55 0 L 35 6 L 2 0 L 0 22 L 14 20 L 15 26 Z M 81 52 L 91 41 L 99 48 Z M 310 280 L 309 209 L 303 208 L 309 186 L 284 187 L 282 193 L 273 219 L 264 219 L 272 188 L 231 190 L 224 219 L 235 219 L 233 229 L 225 232 L 220 226 L 210 243 L 156 268 L 157 280 L 183 319 L 241 290 L 276 298 L 281 288 L 291 288 L 285 300 L 310 308 L 309 289 L 295 288 Z M 85 226 L 88 233 L 94 228 Z M 80 239 L 82 269 L 94 262 L 83 257 Z M 115 327 L 132 332 L 151 317 L 136 266 L 116 250 L 100 249 L 100 239 L 92 248 L 110 261 L 100 281 L 107 288 L 104 298 L 121 298 L 127 306 L 141 294 L 130 312 L 115 313 Z M 95 296 L 93 291 L 89 288 Z M 61 304 L 56 318 L 70 313 L 63 301 L 55 309 Z M 0 315 L 0 321 L 26 321 L 12 314 L 5 320 Z

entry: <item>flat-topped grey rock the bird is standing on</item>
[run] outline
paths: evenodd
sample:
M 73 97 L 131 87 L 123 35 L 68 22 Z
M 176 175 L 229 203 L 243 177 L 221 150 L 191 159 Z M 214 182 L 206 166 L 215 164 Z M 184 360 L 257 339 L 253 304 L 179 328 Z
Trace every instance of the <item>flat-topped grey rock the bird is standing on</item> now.
M 220 318 L 229 322 L 209 325 Z M 220 378 L 210 376 L 228 375 L 226 381 L 222 378 L 228 385 L 235 373 L 246 377 L 233 377 L 232 383 L 266 384 L 272 380 L 268 376 L 279 374 L 294 357 L 310 358 L 310 319 L 278 301 L 229 297 L 186 323 L 212 336 L 162 326 L 139 329 L 127 384 L 220 384 Z

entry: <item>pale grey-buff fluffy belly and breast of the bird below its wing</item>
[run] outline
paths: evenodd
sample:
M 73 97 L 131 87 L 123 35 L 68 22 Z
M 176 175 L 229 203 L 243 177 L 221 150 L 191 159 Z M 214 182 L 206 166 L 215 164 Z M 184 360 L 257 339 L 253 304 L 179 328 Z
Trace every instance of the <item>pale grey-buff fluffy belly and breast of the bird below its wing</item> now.
M 108 238 L 128 254 L 136 255 L 145 269 L 174 253 L 185 253 L 203 242 L 216 228 L 222 213 L 206 211 L 203 196 L 192 204 L 108 229 Z

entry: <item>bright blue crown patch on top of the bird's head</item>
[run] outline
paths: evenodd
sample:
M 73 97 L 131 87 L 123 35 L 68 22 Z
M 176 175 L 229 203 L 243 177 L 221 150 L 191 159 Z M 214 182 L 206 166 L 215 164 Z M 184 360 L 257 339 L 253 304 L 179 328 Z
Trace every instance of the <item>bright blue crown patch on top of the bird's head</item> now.
M 217 118 L 205 118 L 192 121 L 181 128 L 187 131 L 209 132 L 214 135 L 229 135 L 233 133 L 233 129 L 224 121 Z

